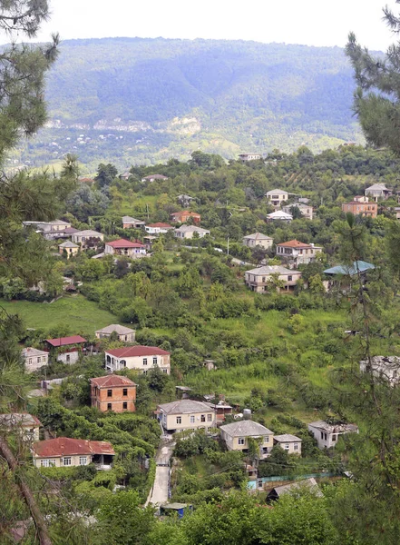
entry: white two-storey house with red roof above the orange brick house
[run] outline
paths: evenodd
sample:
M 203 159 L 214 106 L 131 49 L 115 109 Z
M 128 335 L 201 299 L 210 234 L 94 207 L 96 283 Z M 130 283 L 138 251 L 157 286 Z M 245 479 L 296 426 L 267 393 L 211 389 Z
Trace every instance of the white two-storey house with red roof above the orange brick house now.
M 171 353 L 157 346 L 129 346 L 106 350 L 105 367 L 107 371 L 121 371 L 125 367 L 137 369 L 146 374 L 149 369 L 159 367 L 162 372 L 171 372 Z

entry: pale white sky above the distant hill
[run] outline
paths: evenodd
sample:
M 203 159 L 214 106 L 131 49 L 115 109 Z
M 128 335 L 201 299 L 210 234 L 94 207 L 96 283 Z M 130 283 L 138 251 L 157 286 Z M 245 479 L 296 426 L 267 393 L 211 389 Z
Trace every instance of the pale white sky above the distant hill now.
M 395 0 L 50 0 L 52 18 L 39 35 L 63 39 L 105 36 L 224 38 L 346 44 L 350 30 L 370 49 L 385 49 L 394 36 L 382 22 L 382 7 Z

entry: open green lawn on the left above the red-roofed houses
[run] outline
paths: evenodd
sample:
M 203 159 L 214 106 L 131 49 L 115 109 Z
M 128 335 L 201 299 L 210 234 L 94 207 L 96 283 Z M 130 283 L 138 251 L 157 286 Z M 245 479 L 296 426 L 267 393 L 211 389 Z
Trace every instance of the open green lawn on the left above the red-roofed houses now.
M 66 325 L 72 333 L 93 336 L 95 330 L 117 322 L 111 312 L 102 311 L 83 295 L 63 297 L 52 303 L 0 300 L 0 306 L 6 312 L 18 313 L 26 327 L 35 329 Z

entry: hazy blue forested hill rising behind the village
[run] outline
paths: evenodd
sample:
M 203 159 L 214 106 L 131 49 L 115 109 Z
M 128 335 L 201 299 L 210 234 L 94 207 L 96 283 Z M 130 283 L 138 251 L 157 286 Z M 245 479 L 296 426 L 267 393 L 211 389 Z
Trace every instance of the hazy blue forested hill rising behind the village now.
M 50 123 L 23 159 L 37 163 L 78 150 L 83 163 L 100 158 L 127 166 L 199 148 L 226 157 L 303 143 L 317 151 L 360 141 L 354 86 L 339 47 L 65 41 L 48 76 Z

